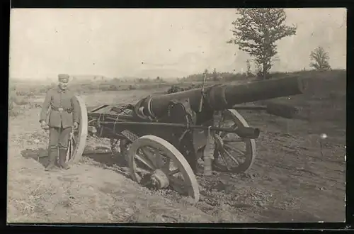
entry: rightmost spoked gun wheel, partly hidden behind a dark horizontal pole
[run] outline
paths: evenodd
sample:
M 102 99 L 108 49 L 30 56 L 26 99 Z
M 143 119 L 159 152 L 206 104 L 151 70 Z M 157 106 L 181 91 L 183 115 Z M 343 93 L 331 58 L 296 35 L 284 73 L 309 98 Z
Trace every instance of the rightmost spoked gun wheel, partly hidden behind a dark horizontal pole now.
M 249 127 L 246 120 L 234 109 L 222 111 L 219 127 Z M 256 141 L 240 138 L 235 133 L 215 132 L 213 167 L 222 172 L 243 173 L 253 165 Z

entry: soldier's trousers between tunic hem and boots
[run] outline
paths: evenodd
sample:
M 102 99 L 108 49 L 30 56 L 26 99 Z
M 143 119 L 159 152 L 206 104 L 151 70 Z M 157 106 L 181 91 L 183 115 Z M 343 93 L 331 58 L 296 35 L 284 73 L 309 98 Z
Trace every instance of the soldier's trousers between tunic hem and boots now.
M 50 127 L 49 147 L 51 150 L 66 150 L 69 143 L 69 136 L 72 128 Z

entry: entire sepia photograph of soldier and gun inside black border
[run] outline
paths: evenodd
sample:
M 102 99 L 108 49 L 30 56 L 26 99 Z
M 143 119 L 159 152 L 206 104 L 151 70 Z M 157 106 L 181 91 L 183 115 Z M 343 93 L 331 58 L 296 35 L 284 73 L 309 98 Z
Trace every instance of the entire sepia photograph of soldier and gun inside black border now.
M 345 222 L 346 22 L 11 9 L 7 223 Z

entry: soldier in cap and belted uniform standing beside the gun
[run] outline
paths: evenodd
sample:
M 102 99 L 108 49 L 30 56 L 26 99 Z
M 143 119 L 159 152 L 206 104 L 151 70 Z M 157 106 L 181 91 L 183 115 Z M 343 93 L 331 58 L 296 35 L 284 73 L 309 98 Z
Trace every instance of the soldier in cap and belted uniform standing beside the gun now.
M 59 151 L 59 167 L 69 169 L 67 165 L 67 148 L 69 135 L 79 128 L 79 106 L 74 101 L 74 92 L 67 89 L 69 83 L 68 74 L 58 75 L 59 84 L 57 87 L 47 91 L 45 101 L 40 112 L 40 126 L 43 129 L 50 130 L 49 141 L 49 164 L 45 170 L 49 171 L 55 168 Z M 48 108 L 50 108 L 49 123 L 46 123 Z

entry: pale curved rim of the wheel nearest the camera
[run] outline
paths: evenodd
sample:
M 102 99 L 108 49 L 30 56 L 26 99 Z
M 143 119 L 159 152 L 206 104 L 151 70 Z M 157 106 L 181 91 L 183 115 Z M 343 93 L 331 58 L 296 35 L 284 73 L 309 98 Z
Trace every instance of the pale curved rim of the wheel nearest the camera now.
M 185 157 L 183 157 L 181 152 L 179 152 L 176 147 L 171 145 L 171 143 L 154 135 L 144 135 L 141 138 L 135 140 L 130 145 L 130 149 L 127 152 L 127 160 L 130 167 L 130 176 L 132 179 L 139 183 L 135 164 L 135 155 L 137 150 L 139 150 L 139 148 L 142 146 L 151 145 L 163 150 L 164 153 L 166 153 L 166 155 L 169 156 L 169 158 L 173 161 L 173 163 L 176 163 L 179 172 L 183 174 L 183 179 L 187 183 L 186 186 L 189 187 L 188 196 L 192 197 L 194 202 L 198 202 L 200 199 L 199 185 L 197 179 L 195 178 L 195 174 L 193 173 L 193 170 L 188 164 L 187 160 L 185 160 Z

